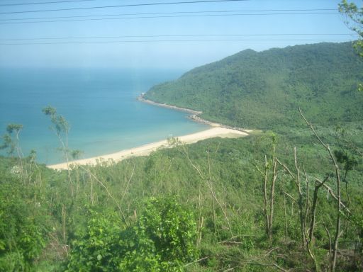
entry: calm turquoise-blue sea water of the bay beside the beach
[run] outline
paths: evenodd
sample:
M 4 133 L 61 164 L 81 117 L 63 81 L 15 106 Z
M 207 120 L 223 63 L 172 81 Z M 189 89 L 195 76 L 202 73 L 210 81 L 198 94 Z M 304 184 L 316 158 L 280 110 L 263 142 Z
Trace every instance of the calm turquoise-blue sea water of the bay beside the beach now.
M 60 144 L 42 108 L 51 105 L 71 125 L 69 147 L 82 157 L 206 129 L 186 113 L 151 106 L 136 97 L 181 72 L 126 69 L 0 69 L 0 134 L 9 123 L 23 124 L 21 149 L 38 162 L 62 162 Z

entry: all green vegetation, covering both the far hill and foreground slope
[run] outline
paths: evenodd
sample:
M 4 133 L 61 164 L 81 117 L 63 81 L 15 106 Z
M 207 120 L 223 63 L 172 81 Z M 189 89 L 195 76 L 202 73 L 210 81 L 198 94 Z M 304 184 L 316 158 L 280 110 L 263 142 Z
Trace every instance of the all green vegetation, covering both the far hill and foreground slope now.
M 21 156 L 23 128 L 9 125 L 0 145 L 9 153 L 0 157 L 0 271 L 363 271 L 362 64 L 354 58 L 349 44 L 319 44 L 249 50 L 194 69 L 148 98 L 273 132 L 174 139 L 119 163 L 53 171 L 35 152 Z M 43 113 L 65 159 L 79 154 L 67 147 L 65 118 L 52 107 Z

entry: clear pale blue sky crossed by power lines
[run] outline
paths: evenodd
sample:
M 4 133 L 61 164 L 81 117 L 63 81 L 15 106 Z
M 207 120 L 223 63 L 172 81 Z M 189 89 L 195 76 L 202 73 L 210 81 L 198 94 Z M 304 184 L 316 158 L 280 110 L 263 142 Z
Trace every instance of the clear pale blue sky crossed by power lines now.
M 339 2 L 0 0 L 0 67 L 187 70 L 245 49 L 354 40 Z

